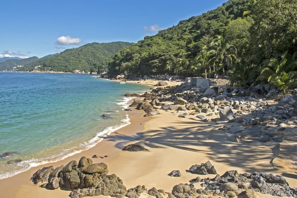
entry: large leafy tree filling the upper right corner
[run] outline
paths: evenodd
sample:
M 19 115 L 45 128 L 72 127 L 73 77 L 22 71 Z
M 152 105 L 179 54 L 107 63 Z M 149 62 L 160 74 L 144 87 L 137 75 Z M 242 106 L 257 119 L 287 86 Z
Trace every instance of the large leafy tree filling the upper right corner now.
M 261 63 L 276 53 L 297 49 L 296 0 L 257 0 L 252 6 L 252 57 Z

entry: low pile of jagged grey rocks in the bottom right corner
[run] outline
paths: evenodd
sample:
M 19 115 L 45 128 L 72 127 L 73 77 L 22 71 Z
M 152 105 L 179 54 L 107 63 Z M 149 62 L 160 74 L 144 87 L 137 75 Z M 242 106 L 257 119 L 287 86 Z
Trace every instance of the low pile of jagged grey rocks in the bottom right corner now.
M 236 170 L 227 171 L 222 176 L 202 179 L 198 191 L 204 195 L 219 195 L 232 198 L 239 195 L 254 195 L 255 192 L 272 196 L 297 198 L 297 190 L 289 187 L 281 175 L 274 176 L 262 172 L 239 174 Z

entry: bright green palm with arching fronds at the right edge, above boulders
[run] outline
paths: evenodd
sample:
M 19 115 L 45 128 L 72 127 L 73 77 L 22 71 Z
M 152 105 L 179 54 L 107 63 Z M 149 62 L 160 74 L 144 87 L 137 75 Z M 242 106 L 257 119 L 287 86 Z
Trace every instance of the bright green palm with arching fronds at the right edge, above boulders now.
M 267 66 L 261 69 L 257 80 L 267 80 L 269 84 L 282 90 L 286 95 L 286 90 L 297 86 L 297 71 L 294 71 L 294 68 L 297 66 L 296 55 L 297 52 L 290 55 L 286 51 L 280 61 L 276 58 L 271 58 L 266 63 Z

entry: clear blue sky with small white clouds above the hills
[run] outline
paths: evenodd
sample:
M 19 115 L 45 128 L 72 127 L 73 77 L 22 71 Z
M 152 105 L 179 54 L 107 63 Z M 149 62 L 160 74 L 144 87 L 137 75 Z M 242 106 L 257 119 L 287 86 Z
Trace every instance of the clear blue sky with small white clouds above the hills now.
M 92 42 L 134 42 L 226 0 L 13 0 L 0 3 L 0 58 Z

